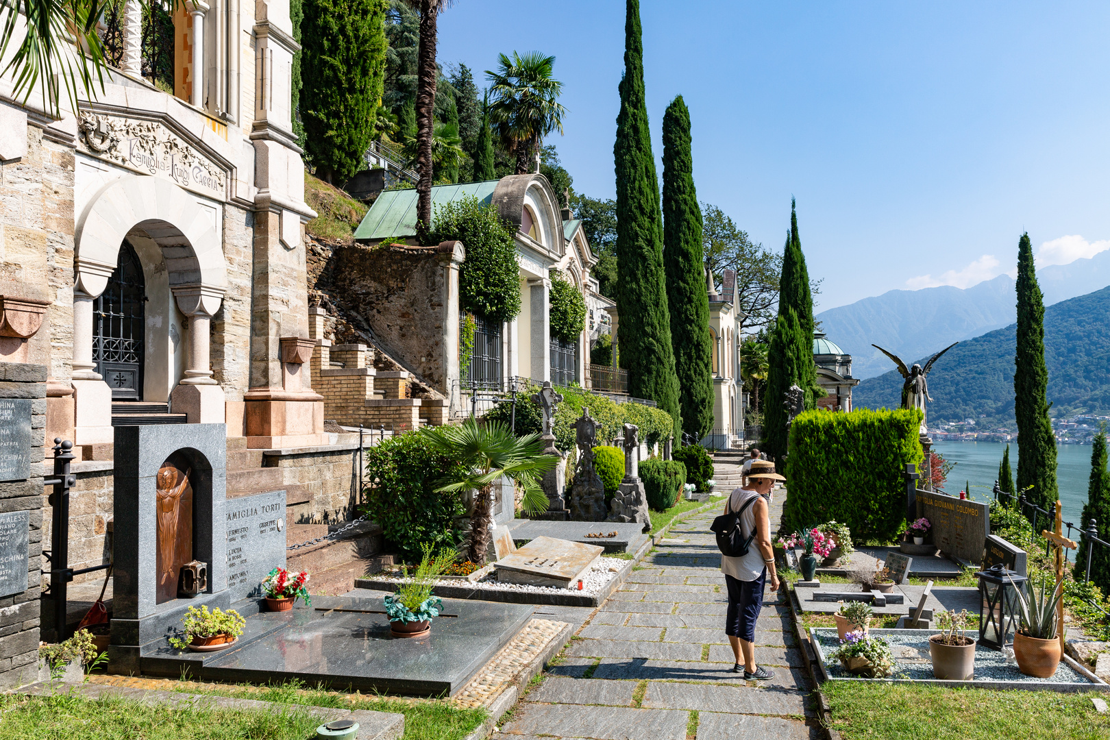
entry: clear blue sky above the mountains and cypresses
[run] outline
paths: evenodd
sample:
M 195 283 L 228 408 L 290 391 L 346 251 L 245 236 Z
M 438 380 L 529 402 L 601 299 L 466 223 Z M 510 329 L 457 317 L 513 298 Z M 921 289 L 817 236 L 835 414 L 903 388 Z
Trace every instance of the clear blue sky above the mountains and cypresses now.
M 625 3 L 458 0 L 440 60 L 556 57 L 558 146 L 613 197 Z M 781 249 L 790 196 L 818 311 L 892 288 L 968 287 L 1110 247 L 1110 3 L 643 0 L 654 152 L 690 109 L 698 196 Z M 662 165 L 659 172 L 662 174 Z

